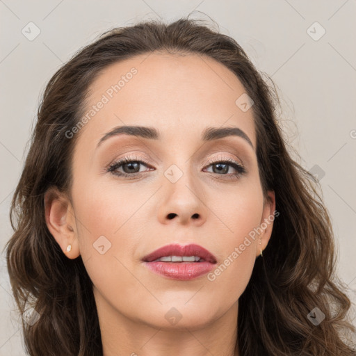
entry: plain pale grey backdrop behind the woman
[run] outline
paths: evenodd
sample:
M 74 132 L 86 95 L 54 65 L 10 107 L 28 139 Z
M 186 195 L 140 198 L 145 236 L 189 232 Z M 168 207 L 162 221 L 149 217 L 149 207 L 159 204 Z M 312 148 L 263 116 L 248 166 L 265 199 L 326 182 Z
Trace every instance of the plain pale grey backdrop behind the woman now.
M 318 176 L 337 242 L 337 273 L 355 302 L 355 0 L 0 0 L 1 249 L 12 234 L 10 201 L 40 95 L 54 72 L 108 29 L 172 21 L 193 10 L 193 18 L 215 20 L 277 85 L 286 140 L 300 154 L 296 161 Z M 4 255 L 0 355 L 24 355 Z

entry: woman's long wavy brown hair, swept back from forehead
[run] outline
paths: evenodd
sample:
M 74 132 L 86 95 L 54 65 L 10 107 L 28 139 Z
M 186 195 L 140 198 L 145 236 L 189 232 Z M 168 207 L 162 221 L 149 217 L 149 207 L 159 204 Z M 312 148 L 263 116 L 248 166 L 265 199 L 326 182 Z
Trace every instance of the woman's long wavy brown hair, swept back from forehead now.
M 198 20 L 150 21 L 116 28 L 78 51 L 52 76 L 38 108 L 31 148 L 10 209 L 14 234 L 7 266 L 19 312 L 32 307 L 38 321 L 23 321 L 30 355 L 102 355 L 92 282 L 79 256 L 68 259 L 44 220 L 49 187 L 68 193 L 80 120 L 88 89 L 108 65 L 152 51 L 209 56 L 232 70 L 252 98 L 262 188 L 275 191 L 272 236 L 238 302 L 240 356 L 355 355 L 347 332 L 351 302 L 334 275 L 332 225 L 318 181 L 291 159 L 277 118 L 278 99 L 240 45 Z M 318 325 L 307 315 L 325 314 Z M 315 310 L 315 309 L 314 309 Z M 233 327 L 233 325 L 232 325 Z

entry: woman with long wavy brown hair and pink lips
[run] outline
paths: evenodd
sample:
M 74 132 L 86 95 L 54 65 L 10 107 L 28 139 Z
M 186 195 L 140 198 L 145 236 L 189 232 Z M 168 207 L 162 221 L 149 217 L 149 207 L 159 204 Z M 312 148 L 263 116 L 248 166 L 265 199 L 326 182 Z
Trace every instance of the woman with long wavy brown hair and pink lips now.
M 108 31 L 54 74 L 7 250 L 30 355 L 355 355 L 276 102 L 190 19 Z

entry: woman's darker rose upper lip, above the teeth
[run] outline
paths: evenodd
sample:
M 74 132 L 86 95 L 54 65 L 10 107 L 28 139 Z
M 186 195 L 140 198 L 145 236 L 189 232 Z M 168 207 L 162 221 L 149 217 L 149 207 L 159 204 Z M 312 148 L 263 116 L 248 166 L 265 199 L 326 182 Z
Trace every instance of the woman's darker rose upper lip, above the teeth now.
M 216 258 L 200 245 L 195 245 L 194 243 L 190 245 L 179 245 L 171 244 L 165 245 L 147 256 L 143 257 L 143 261 L 152 262 L 155 259 L 159 259 L 165 256 L 197 256 L 205 261 L 211 262 L 211 264 L 216 264 Z

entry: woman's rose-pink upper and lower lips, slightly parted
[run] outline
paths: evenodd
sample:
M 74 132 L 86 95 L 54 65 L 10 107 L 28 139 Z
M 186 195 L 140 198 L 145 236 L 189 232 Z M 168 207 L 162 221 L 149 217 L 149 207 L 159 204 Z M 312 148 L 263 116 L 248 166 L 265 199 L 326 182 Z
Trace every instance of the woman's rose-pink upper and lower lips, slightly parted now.
M 202 262 L 163 262 L 156 261 L 164 256 L 198 256 Z M 143 257 L 143 263 L 149 270 L 159 275 L 164 275 L 173 280 L 193 280 L 209 273 L 216 264 L 216 257 L 200 245 L 165 245 Z

